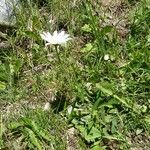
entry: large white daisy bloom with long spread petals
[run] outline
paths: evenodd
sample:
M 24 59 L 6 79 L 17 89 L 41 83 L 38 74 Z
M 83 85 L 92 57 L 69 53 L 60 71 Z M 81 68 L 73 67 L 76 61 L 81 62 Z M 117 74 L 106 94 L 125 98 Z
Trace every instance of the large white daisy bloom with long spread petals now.
M 65 31 L 61 31 L 61 32 L 57 32 L 54 31 L 53 34 L 49 33 L 49 32 L 43 32 L 40 34 L 41 38 L 43 40 L 45 40 L 46 46 L 47 45 L 56 45 L 56 44 L 64 44 L 67 41 L 71 40 L 72 38 L 70 38 L 69 34 L 66 34 Z

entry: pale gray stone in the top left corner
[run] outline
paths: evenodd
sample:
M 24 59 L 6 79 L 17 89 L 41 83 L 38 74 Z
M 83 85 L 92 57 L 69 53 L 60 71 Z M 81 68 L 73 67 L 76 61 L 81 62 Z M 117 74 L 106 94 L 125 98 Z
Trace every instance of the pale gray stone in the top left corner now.
M 18 0 L 0 0 L 0 24 L 14 25 L 14 8 L 18 5 Z

